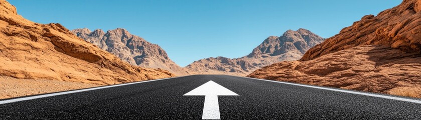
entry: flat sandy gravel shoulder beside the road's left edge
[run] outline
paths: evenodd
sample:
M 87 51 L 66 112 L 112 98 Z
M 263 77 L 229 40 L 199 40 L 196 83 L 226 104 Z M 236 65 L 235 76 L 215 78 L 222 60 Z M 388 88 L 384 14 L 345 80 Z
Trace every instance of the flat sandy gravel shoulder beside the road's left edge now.
M 0 76 L 0 99 L 101 86 L 99 84 Z

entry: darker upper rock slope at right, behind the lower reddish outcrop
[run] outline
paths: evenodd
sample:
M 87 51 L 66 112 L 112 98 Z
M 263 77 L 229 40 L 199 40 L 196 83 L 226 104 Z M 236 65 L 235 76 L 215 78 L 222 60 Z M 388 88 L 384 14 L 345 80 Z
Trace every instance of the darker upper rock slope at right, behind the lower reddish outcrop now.
M 365 15 L 360 21 L 343 28 L 339 34 L 308 50 L 301 60 L 359 45 L 384 45 L 406 52 L 419 51 L 420 4 L 420 0 L 403 0 L 398 6 L 386 9 L 377 16 Z

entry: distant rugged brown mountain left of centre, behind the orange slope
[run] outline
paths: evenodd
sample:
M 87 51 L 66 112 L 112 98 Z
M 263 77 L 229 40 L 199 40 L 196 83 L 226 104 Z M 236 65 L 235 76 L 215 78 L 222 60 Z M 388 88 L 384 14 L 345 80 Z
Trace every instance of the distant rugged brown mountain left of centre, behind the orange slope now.
M 101 29 L 91 31 L 88 28 L 78 28 L 71 32 L 132 65 L 166 69 L 177 75 L 188 74 L 172 61 L 159 45 L 130 34 L 126 29 L 117 28 L 104 32 Z

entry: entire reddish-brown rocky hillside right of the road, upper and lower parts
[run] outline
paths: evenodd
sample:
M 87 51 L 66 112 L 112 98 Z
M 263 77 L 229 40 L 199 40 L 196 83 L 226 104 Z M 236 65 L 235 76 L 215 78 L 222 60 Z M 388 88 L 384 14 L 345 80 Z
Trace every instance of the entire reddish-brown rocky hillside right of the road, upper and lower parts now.
M 365 15 L 308 50 L 250 77 L 421 97 L 421 0 Z

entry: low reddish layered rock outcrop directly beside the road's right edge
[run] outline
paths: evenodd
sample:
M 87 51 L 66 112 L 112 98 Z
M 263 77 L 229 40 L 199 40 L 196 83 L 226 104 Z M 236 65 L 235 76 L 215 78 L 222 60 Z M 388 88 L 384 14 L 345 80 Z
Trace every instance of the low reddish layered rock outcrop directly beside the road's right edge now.
M 421 57 L 379 45 L 363 45 L 306 61 L 265 66 L 249 77 L 421 97 Z

